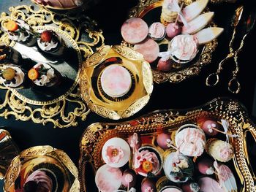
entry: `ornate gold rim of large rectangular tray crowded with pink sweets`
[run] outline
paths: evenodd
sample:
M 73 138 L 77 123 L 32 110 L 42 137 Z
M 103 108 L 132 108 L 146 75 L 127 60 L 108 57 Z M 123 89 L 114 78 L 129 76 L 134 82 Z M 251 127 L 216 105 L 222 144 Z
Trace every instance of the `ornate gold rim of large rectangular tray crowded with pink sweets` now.
M 187 120 L 195 119 L 197 115 L 202 117 L 208 113 L 227 120 L 230 123 L 230 131 L 232 134 L 238 134 L 238 138 L 230 140 L 235 148 L 233 163 L 236 168 L 236 173 L 240 178 L 241 185 L 244 185 L 244 188 L 241 188 L 241 191 L 254 192 L 256 188 L 256 178 L 255 173 L 252 168 L 250 168 L 248 154 L 244 153 L 246 150 L 244 147 L 244 145 L 246 145 L 246 141 L 244 141 L 243 136 L 245 131 L 250 131 L 252 132 L 256 142 L 255 125 L 251 120 L 249 120 L 246 110 L 242 104 L 238 101 L 227 98 L 217 98 L 200 107 L 188 110 L 159 110 L 135 120 L 123 123 L 91 124 L 91 126 L 83 132 L 80 139 L 79 180 L 81 182 L 81 186 L 86 186 L 86 183 L 83 183 L 85 182 L 86 177 L 86 170 L 82 164 L 83 158 L 86 156 L 86 161 L 89 161 L 94 166 L 97 164 L 97 159 L 94 159 L 94 143 L 99 143 L 103 137 L 107 138 L 107 133 L 108 137 L 115 137 L 118 133 L 131 134 L 134 131 L 140 134 L 147 134 L 156 131 L 157 126 L 165 128 L 170 125 L 178 125 L 179 123 L 183 123 Z M 137 124 L 132 125 L 132 122 L 136 122 Z M 111 132 L 113 133 L 111 134 Z M 81 190 L 85 191 L 83 188 L 81 188 Z

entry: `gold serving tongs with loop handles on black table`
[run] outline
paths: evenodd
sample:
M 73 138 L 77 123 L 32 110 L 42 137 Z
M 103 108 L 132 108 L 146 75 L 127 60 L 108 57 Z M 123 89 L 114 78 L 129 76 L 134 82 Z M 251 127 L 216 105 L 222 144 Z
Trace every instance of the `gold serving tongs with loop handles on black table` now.
M 211 73 L 208 75 L 206 78 L 206 85 L 207 86 L 214 86 L 217 85 L 219 82 L 219 74 L 222 72 L 223 65 L 225 64 L 225 61 L 227 61 L 230 58 L 233 58 L 236 64 L 236 69 L 233 70 L 233 77 L 232 79 L 228 82 L 228 91 L 231 93 L 239 93 L 241 90 L 241 84 L 238 81 L 237 75 L 239 72 L 239 65 L 238 65 L 238 53 L 241 52 L 241 50 L 244 47 L 244 40 L 246 39 L 246 36 L 249 34 L 249 31 L 252 30 L 254 24 L 255 24 L 255 10 L 252 10 L 252 12 L 249 14 L 249 17 L 246 20 L 246 31 L 244 32 L 244 37 L 241 39 L 240 46 L 238 47 L 237 50 L 233 49 L 233 43 L 236 39 L 236 27 L 238 26 L 239 21 L 241 20 L 241 16 L 244 11 L 244 6 L 241 5 L 236 9 L 235 15 L 233 17 L 233 35 L 229 43 L 229 50 L 230 53 L 227 54 L 226 58 L 224 58 L 222 61 L 219 63 L 219 67 L 217 69 L 217 72 Z M 213 80 L 215 78 L 215 80 Z

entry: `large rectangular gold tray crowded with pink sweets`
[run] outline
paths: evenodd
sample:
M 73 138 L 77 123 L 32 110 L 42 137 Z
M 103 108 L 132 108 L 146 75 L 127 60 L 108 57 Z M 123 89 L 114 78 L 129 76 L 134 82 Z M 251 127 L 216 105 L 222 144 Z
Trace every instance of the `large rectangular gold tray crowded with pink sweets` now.
M 250 159 L 251 156 L 247 150 L 252 142 L 256 142 L 255 125 L 248 118 L 242 104 L 232 99 L 221 98 L 194 109 L 160 110 L 124 123 L 92 124 L 86 128 L 80 139 L 79 180 L 81 191 L 91 191 L 92 189 L 97 191 L 92 175 L 104 164 L 101 150 L 108 139 L 112 137 L 127 139 L 137 132 L 142 140 L 154 144 L 158 131 L 175 133 L 181 125 L 197 122 L 200 118 L 217 118 L 228 121 L 230 125 L 228 131 L 238 135 L 238 137 L 230 139 L 235 155 L 233 162 L 230 161 L 229 164 L 230 169 L 235 173 L 238 191 L 256 191 L 255 169 L 252 167 L 254 159 Z M 249 137 L 252 138 L 252 141 L 247 141 Z

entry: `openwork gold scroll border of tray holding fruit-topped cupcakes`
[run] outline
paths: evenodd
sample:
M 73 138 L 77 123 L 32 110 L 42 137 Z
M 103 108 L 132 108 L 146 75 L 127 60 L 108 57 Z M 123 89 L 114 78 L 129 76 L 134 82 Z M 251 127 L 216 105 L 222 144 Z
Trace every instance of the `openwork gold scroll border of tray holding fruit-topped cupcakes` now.
M 104 45 L 104 37 L 102 31 L 94 31 L 97 26 L 94 20 L 86 15 L 80 15 L 80 22 L 77 18 L 56 15 L 42 7 L 32 7 L 21 5 L 10 7 L 10 15 L 6 12 L 1 13 L 1 28 L 4 23 L 10 19 L 26 20 L 31 27 L 41 28 L 41 26 L 56 26 L 63 34 L 68 34 L 70 40 L 78 47 L 83 60 L 94 53 L 94 50 Z M 82 33 L 84 31 L 84 33 Z M 0 30 L 0 41 L 7 45 L 14 46 L 14 42 L 10 42 L 8 34 Z M 86 35 L 87 37 L 82 37 Z M 84 41 L 83 39 L 86 39 Z M 78 80 L 78 79 L 77 79 Z M 0 104 L 0 117 L 8 118 L 14 115 L 16 120 L 32 120 L 34 123 L 53 123 L 54 127 L 65 128 L 69 126 L 77 126 L 78 118 L 86 120 L 86 116 L 90 110 L 80 98 L 80 89 L 76 85 L 69 94 L 60 97 L 51 102 L 37 103 L 26 101 L 17 91 L 5 89 L 4 101 Z M 30 103 L 30 104 L 29 104 Z M 67 103 L 72 104 L 74 110 L 67 111 Z M 37 107 L 36 105 L 42 105 Z

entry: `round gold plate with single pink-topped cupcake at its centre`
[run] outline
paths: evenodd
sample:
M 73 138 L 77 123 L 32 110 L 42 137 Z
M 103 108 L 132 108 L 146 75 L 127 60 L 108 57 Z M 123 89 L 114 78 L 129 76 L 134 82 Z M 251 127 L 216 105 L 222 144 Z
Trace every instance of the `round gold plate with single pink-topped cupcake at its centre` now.
M 99 85 L 94 85 L 92 82 L 93 79 L 98 79 L 94 72 L 105 67 L 101 62 L 111 57 L 121 58 L 121 66 L 127 68 L 135 78 L 134 91 L 125 99 L 111 99 L 104 96 L 100 91 L 98 94 Z M 150 65 L 140 53 L 129 47 L 122 45 L 102 47 L 84 62 L 80 72 L 80 91 L 83 100 L 97 114 L 115 120 L 128 118 L 148 103 L 153 91 Z

